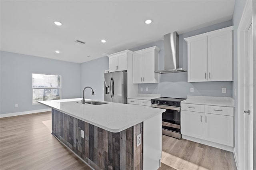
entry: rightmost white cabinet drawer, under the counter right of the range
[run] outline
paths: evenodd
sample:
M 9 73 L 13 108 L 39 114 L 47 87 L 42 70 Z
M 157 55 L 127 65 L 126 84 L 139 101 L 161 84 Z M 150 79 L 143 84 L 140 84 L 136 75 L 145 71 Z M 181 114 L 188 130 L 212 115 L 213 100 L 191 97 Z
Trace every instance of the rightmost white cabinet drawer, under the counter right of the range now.
M 216 115 L 234 116 L 233 107 L 210 106 L 204 105 L 204 113 L 212 113 Z

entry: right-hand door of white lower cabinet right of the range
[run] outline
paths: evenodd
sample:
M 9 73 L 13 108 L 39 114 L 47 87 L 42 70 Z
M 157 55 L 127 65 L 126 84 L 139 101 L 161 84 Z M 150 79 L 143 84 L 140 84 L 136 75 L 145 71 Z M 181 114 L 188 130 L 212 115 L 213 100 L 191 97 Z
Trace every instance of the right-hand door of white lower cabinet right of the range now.
M 234 146 L 232 116 L 204 113 L 204 140 Z

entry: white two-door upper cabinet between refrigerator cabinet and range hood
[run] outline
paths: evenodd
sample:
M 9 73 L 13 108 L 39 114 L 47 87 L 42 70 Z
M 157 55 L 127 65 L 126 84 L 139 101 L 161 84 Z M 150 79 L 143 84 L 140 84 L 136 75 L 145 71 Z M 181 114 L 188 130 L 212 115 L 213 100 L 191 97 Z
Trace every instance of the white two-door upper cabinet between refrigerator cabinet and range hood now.
M 134 51 L 133 83 L 158 83 L 158 55 L 160 49 L 156 46 Z

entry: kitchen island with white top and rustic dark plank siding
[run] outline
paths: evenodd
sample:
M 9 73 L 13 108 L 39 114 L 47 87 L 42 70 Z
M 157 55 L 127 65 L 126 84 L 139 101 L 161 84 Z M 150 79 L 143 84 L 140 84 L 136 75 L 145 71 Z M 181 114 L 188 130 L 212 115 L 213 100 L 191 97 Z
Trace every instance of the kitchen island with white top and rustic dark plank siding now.
M 52 108 L 52 134 L 94 169 L 158 169 L 162 112 L 82 99 L 39 101 Z

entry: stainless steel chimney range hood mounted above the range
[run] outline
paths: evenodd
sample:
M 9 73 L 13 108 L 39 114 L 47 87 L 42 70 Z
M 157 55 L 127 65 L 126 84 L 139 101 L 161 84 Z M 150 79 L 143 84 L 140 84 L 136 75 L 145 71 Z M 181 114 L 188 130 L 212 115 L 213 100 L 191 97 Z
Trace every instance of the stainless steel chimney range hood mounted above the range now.
M 164 70 L 155 71 L 155 73 L 179 73 L 186 72 L 179 68 L 179 35 L 172 32 L 164 35 Z

